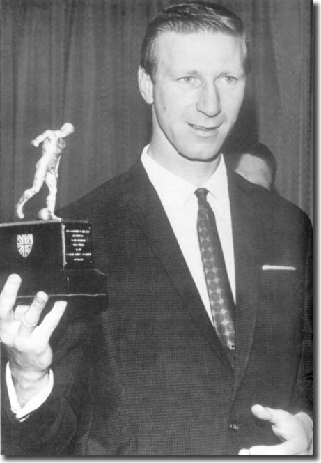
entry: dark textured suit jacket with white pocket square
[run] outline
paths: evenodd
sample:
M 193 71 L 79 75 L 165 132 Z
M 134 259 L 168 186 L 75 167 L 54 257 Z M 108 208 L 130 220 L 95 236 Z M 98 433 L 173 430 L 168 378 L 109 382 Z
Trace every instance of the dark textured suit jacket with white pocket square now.
M 251 405 L 312 410 L 312 234 L 296 206 L 228 173 L 235 368 L 141 162 L 65 208 L 107 273 L 99 314 L 61 321 L 55 386 L 24 423 L 3 391 L 5 455 L 237 455 L 277 443 Z M 262 266 L 295 270 L 265 270 Z

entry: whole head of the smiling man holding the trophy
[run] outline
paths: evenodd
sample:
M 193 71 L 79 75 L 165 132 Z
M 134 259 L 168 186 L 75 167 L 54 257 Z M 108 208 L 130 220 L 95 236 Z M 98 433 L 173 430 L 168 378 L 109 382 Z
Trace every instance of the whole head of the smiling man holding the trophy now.
M 185 3 L 152 20 L 139 88 L 152 105 L 151 151 L 165 167 L 217 159 L 242 105 L 248 61 L 242 21 L 225 8 Z

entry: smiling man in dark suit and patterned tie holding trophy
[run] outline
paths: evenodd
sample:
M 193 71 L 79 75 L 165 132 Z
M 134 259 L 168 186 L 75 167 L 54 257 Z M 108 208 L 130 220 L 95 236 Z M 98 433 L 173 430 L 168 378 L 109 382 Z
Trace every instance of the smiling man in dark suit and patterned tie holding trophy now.
M 224 8 L 148 26 L 150 144 L 64 211 L 93 223 L 106 309 L 68 324 L 60 302 L 38 324 L 45 294 L 14 310 L 13 275 L 0 296 L 6 455 L 311 453 L 311 227 L 220 153 L 248 61 Z

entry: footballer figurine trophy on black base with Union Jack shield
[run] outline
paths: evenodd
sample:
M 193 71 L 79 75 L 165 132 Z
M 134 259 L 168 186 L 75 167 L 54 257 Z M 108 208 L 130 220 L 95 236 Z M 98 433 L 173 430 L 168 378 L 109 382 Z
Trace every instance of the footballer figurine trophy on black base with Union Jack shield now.
M 17 273 L 22 277 L 19 303 L 30 303 L 41 290 L 52 301 L 68 298 L 68 308 L 77 308 L 79 314 L 79 308 L 88 312 L 100 307 L 106 296 L 106 281 L 104 273 L 93 267 L 91 224 L 86 220 L 61 219 L 54 213 L 64 138 L 72 132 L 72 124 L 65 123 L 60 130 L 46 130 L 31 142 L 36 147 L 42 144 L 42 153 L 33 185 L 24 191 L 15 207 L 17 218 L 24 218 L 24 204 L 40 191 L 43 183 L 49 194 L 38 220 L 0 224 L 0 284 L 2 287 L 10 273 Z

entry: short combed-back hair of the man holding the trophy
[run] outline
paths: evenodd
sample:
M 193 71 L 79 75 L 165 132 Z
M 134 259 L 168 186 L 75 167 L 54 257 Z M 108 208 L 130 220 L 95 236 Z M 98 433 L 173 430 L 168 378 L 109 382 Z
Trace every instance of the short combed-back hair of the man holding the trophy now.
M 240 37 L 245 48 L 244 71 L 250 71 L 249 39 L 243 22 L 230 10 L 214 3 L 193 1 L 169 6 L 157 15 L 147 26 L 141 46 L 141 67 L 153 76 L 157 58 L 155 39 L 163 32 L 194 33 L 199 31 L 223 32 Z

